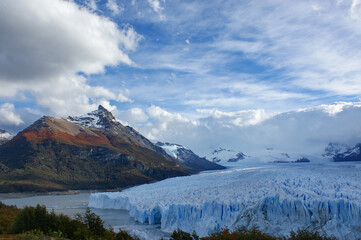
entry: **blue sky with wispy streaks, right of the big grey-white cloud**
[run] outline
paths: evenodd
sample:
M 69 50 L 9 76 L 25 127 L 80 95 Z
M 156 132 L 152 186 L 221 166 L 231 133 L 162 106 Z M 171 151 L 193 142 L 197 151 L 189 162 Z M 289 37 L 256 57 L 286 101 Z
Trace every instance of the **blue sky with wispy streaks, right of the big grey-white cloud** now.
M 103 14 L 106 2 L 96 3 Z M 118 4 L 110 18 L 142 36 L 129 54 L 138 67 L 89 79 L 121 82 L 129 107 L 286 111 L 359 99 L 357 1 Z

